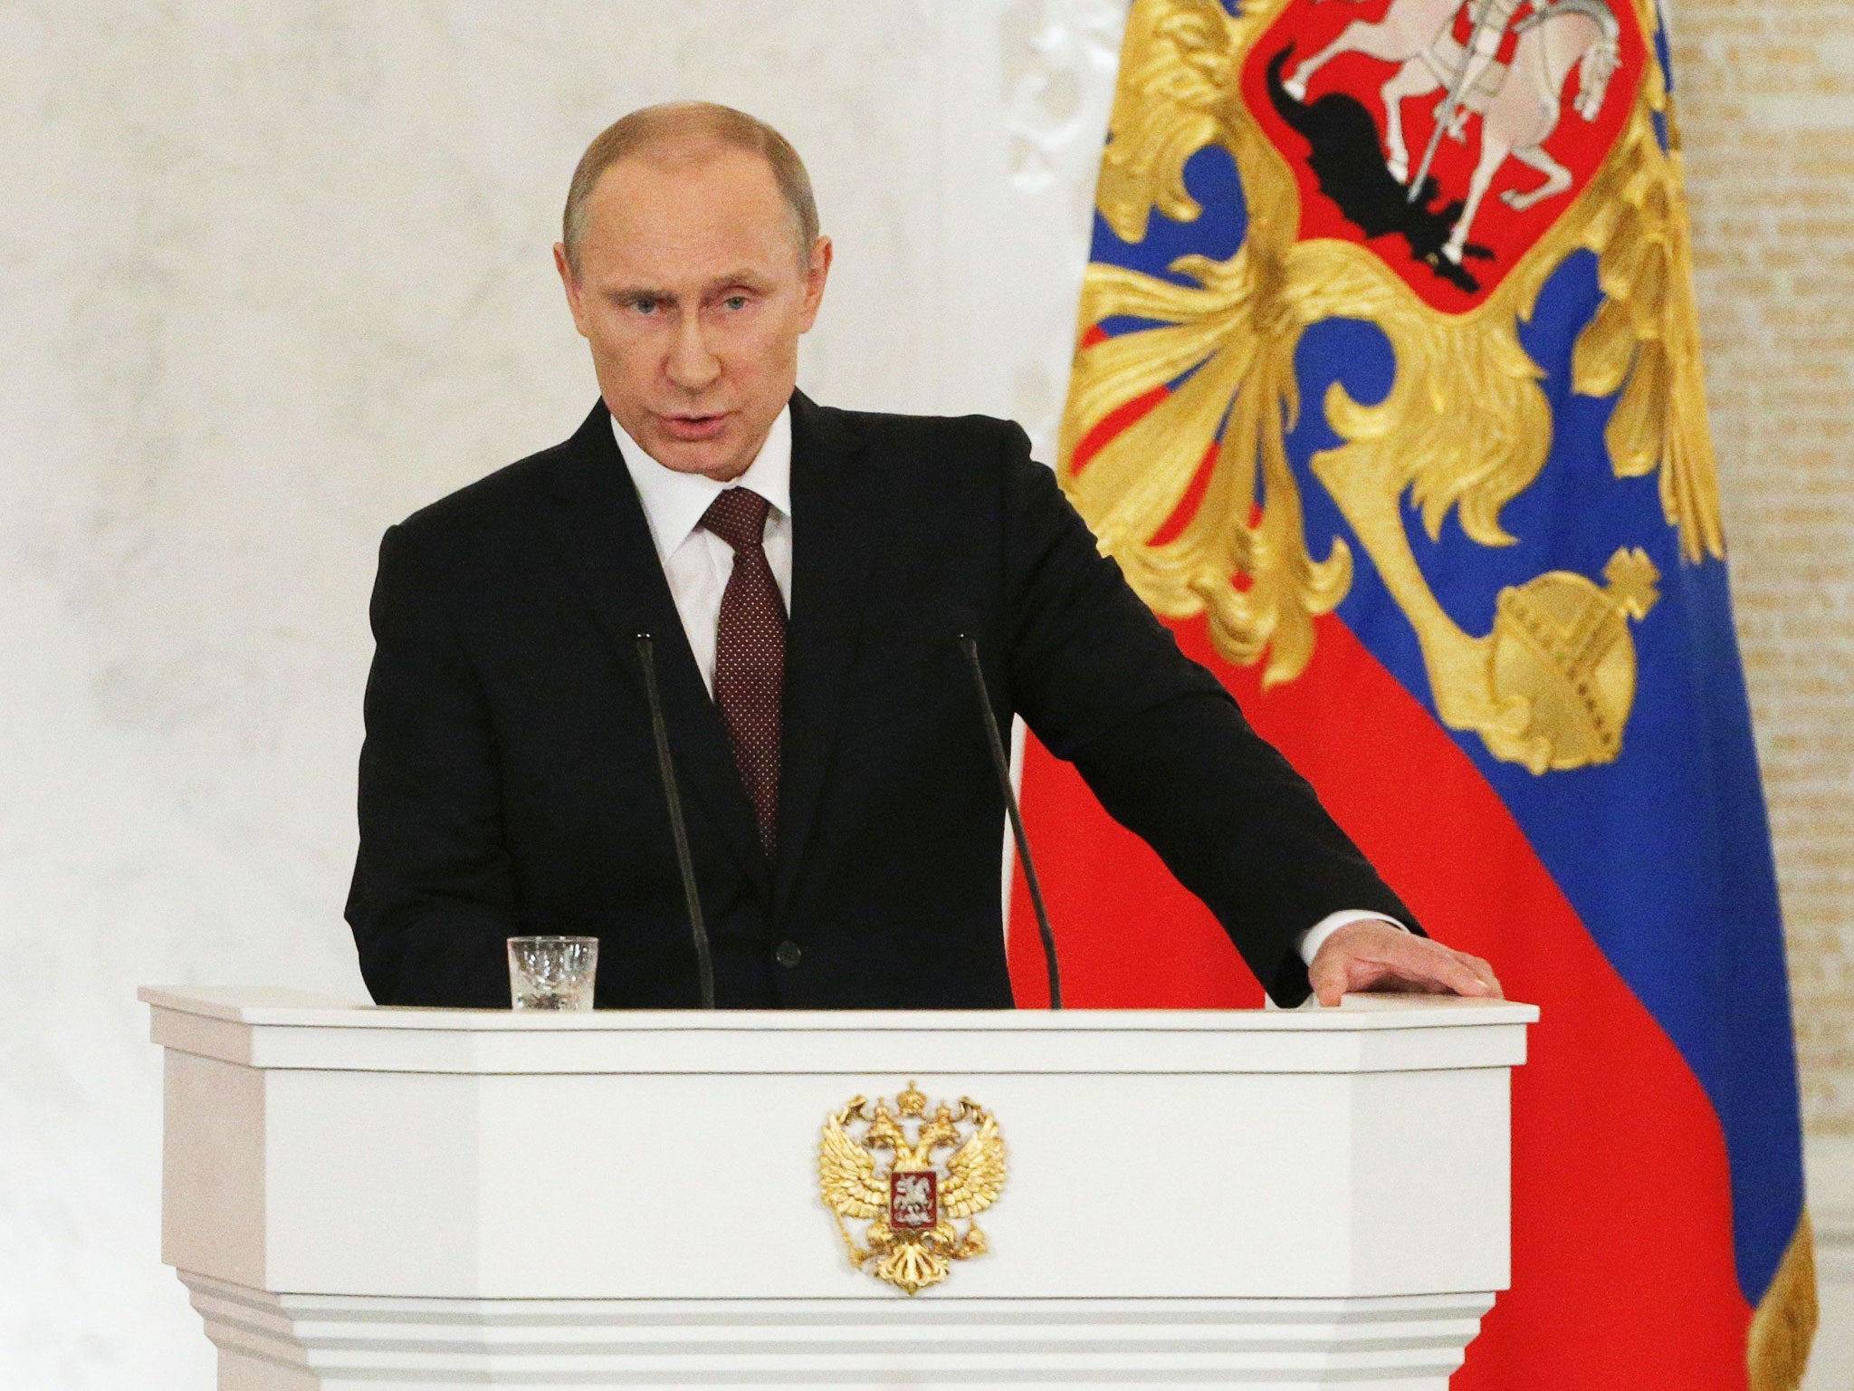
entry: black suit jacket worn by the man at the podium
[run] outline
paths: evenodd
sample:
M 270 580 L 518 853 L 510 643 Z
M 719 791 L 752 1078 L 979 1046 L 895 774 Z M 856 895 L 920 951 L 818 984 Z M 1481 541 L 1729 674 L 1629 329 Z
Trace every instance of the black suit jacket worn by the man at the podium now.
M 634 634 L 656 660 L 723 1007 L 1009 1007 L 1003 799 L 957 645 L 1283 1003 L 1337 909 L 1413 922 L 1103 558 L 1016 425 L 792 401 L 768 864 L 599 404 L 387 530 L 349 922 L 382 1003 L 508 1005 L 504 938 L 599 937 L 597 1003 L 692 1005 Z M 1062 924 L 1057 924 L 1060 935 Z

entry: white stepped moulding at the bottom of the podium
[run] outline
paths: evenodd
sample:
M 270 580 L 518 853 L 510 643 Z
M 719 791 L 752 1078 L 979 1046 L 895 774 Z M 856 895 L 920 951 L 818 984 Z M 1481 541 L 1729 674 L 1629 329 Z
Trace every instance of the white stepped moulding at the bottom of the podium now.
M 219 1391 L 484 1385 L 1227 1385 L 1446 1391 L 1492 1295 L 456 1300 L 276 1295 L 180 1272 Z

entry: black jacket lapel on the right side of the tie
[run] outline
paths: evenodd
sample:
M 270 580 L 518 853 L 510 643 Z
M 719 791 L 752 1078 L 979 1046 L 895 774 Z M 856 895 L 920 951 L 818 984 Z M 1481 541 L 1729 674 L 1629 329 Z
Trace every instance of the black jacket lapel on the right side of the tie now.
M 784 911 L 818 818 L 844 681 L 881 523 L 877 469 L 840 412 L 792 397 L 792 621 L 779 781 L 773 912 Z

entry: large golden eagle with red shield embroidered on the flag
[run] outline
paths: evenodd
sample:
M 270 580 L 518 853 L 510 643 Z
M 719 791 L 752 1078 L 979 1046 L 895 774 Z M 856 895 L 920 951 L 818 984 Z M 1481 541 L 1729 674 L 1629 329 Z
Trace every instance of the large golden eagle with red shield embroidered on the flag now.
M 1333 384 L 1340 443 L 1311 475 L 1415 629 L 1441 720 L 1533 773 L 1619 755 L 1630 625 L 1661 579 L 1641 538 L 1619 536 L 1600 575 L 1550 569 L 1489 593 L 1487 631 L 1470 632 L 1407 527 L 1420 517 L 1437 542 L 1454 510 L 1468 543 L 1513 543 L 1502 510 L 1554 434 L 1520 326 L 1589 250 L 1600 302 L 1570 386 L 1617 397 L 1609 466 L 1659 477 L 1682 564 L 1724 555 L 1657 22 L 1652 0 L 1133 6 L 1101 217 L 1124 243 L 1155 211 L 1196 221 L 1185 165 L 1209 147 L 1235 161 L 1246 204 L 1227 260 L 1181 256 L 1168 276 L 1096 260 L 1081 297 L 1059 473 L 1161 616 L 1203 614 L 1218 651 L 1264 662 L 1264 683 L 1305 670 L 1353 553 L 1305 530 L 1285 447 L 1296 349 L 1324 319 L 1363 319 L 1389 339 L 1394 380 L 1378 402 Z M 1137 326 L 1098 328 L 1112 321 Z

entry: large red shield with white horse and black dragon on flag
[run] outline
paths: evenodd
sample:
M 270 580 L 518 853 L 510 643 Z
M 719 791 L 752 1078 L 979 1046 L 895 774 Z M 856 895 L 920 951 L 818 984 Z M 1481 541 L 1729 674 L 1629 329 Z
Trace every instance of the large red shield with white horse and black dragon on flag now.
M 1609 0 L 1296 0 L 1242 95 L 1294 169 L 1302 239 L 1370 247 L 1463 313 L 1589 185 L 1644 61 L 1633 6 Z

